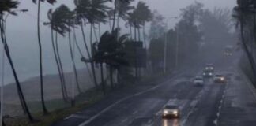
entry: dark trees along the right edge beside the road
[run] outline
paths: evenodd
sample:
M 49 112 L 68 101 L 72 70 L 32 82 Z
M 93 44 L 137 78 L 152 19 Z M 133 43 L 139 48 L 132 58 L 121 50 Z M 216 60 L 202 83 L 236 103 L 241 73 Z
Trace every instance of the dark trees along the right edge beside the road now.
M 244 50 L 244 56 L 240 61 L 242 71 L 256 86 L 256 62 L 255 62 L 255 42 L 256 42 L 256 2 L 249 0 L 238 0 L 235 6 L 233 17 L 240 37 L 237 43 L 238 49 Z

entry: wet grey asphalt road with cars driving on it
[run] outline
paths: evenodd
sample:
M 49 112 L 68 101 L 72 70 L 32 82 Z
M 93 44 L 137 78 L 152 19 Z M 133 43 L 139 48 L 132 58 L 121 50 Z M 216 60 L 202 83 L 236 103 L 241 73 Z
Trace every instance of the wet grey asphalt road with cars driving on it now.
M 216 71 L 231 74 L 228 83 L 209 79 L 204 87 L 191 83 L 201 70 L 182 72 L 156 87 L 121 98 L 90 117 L 84 112 L 75 113 L 54 126 L 253 126 L 256 97 L 245 84 L 248 80 L 234 69 L 218 68 Z M 179 119 L 161 117 L 167 102 L 179 105 Z

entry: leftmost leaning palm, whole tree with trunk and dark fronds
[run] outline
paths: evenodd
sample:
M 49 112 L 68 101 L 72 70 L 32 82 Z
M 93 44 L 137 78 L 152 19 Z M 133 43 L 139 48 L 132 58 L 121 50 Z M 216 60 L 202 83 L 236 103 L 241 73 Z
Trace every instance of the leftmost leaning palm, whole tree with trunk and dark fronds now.
M 18 93 L 20 101 L 21 101 L 21 106 L 24 109 L 24 112 L 28 114 L 28 119 L 30 121 L 33 121 L 34 119 L 28 109 L 27 102 L 25 101 L 25 98 L 24 98 L 24 95 L 23 95 L 23 92 L 21 89 L 21 83 L 17 77 L 17 72 L 16 72 L 16 69 L 14 68 L 12 57 L 9 54 L 9 46 L 8 46 L 8 43 L 6 40 L 6 20 L 4 19 L 4 16 L 5 16 L 6 12 L 16 15 L 17 13 L 13 12 L 11 9 L 16 9 L 18 4 L 19 4 L 19 2 L 12 1 L 12 0 L 2 0 L 0 2 L 0 34 L 1 34 L 1 39 L 2 39 L 3 46 L 4 46 L 4 50 L 6 52 L 6 56 L 9 61 L 9 65 L 11 66 L 11 69 L 13 72 L 14 80 L 17 85 L 17 93 Z

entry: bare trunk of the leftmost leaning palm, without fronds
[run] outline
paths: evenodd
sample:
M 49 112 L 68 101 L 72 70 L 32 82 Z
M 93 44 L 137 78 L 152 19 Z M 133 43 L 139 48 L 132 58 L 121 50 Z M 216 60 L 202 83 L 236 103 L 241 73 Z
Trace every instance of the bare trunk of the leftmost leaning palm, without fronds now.
M 24 109 L 24 111 L 28 114 L 28 119 L 33 122 L 34 119 L 28 109 L 28 106 L 27 106 L 27 103 L 26 103 L 26 100 L 24 98 L 24 95 L 23 95 L 23 92 L 22 92 L 22 89 L 21 89 L 21 83 L 20 83 L 20 80 L 18 79 L 17 77 L 17 72 L 14 68 L 14 65 L 13 65 L 13 60 L 9 54 L 9 46 L 7 44 L 7 41 L 6 41 L 6 35 L 5 35 L 5 29 L 4 29 L 4 20 L 2 19 L 2 17 L 0 17 L 0 34 L 1 34 L 1 39 L 2 39 L 2 43 L 3 43 L 3 46 L 4 46 L 4 50 L 6 52 L 6 57 L 9 61 L 9 65 L 11 66 L 11 69 L 12 69 L 12 72 L 13 72 L 13 76 L 14 76 L 14 80 L 16 82 L 16 85 L 17 85 L 17 93 L 19 95 L 19 98 L 20 98 L 20 101 L 21 101 L 21 106 L 22 108 Z

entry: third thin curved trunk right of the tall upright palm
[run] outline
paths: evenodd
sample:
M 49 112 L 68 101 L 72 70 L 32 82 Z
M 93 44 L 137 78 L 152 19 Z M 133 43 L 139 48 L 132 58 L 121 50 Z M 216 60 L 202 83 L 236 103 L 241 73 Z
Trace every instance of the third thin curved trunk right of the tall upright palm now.
M 73 50 L 72 50 L 72 44 L 71 44 L 71 39 L 70 39 L 70 31 L 69 31 L 69 46 L 70 46 L 71 60 L 72 60 L 72 64 L 73 64 L 73 72 L 74 72 L 75 80 L 76 80 L 76 84 L 77 84 L 77 91 L 79 93 L 81 93 L 81 88 L 80 88 L 79 83 L 78 83 L 77 67 L 76 67 L 76 64 L 75 64 L 74 58 L 73 58 Z

